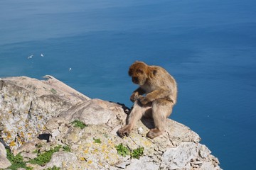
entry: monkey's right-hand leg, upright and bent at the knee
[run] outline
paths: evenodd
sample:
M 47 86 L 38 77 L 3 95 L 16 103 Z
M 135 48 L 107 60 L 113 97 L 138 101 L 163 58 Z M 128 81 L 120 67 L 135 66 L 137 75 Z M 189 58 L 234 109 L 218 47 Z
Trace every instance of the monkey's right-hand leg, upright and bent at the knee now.
M 166 119 L 171 115 L 174 104 L 165 99 L 159 99 L 152 103 L 152 116 L 154 119 L 155 128 L 149 130 L 147 137 L 153 139 L 164 133 L 166 128 Z

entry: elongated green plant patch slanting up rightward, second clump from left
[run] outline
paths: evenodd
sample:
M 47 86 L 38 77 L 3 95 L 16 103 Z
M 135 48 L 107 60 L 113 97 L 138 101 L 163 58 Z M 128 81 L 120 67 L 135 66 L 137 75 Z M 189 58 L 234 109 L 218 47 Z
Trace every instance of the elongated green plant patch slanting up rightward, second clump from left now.
M 38 154 L 38 157 L 31 159 L 29 162 L 31 164 L 38 164 L 38 165 L 45 165 L 46 163 L 50 162 L 50 159 L 54 152 L 58 152 L 60 150 L 61 146 L 58 145 L 57 147 L 54 147 L 53 149 L 50 149 L 46 152 L 43 152 L 41 154 Z

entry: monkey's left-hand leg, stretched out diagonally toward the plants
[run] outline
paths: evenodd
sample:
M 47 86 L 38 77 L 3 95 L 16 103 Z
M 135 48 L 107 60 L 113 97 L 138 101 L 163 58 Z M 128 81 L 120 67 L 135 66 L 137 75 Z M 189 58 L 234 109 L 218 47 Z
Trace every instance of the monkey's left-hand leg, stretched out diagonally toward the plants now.
M 151 108 L 151 103 L 146 106 L 139 106 L 137 102 L 134 103 L 131 113 L 129 114 L 127 125 L 117 130 L 120 137 L 129 136 L 134 128 L 134 125 L 142 118 L 142 115 Z

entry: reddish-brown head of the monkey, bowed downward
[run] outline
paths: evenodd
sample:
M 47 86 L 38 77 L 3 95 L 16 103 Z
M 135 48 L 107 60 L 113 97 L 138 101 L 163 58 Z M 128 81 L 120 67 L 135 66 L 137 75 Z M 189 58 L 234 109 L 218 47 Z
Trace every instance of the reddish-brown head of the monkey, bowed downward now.
M 130 77 L 132 77 L 132 82 L 134 84 L 139 84 L 142 86 L 145 84 L 148 77 L 148 65 L 146 65 L 144 62 L 134 62 L 134 64 L 129 67 L 128 74 Z

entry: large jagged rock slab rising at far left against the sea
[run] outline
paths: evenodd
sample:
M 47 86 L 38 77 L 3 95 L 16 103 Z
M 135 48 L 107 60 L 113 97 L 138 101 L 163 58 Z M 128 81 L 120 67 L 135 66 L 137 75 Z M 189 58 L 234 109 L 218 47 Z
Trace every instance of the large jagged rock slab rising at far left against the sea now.
M 90 98 L 51 76 L 0 79 L 1 137 L 17 149 L 45 129 L 46 121 Z

